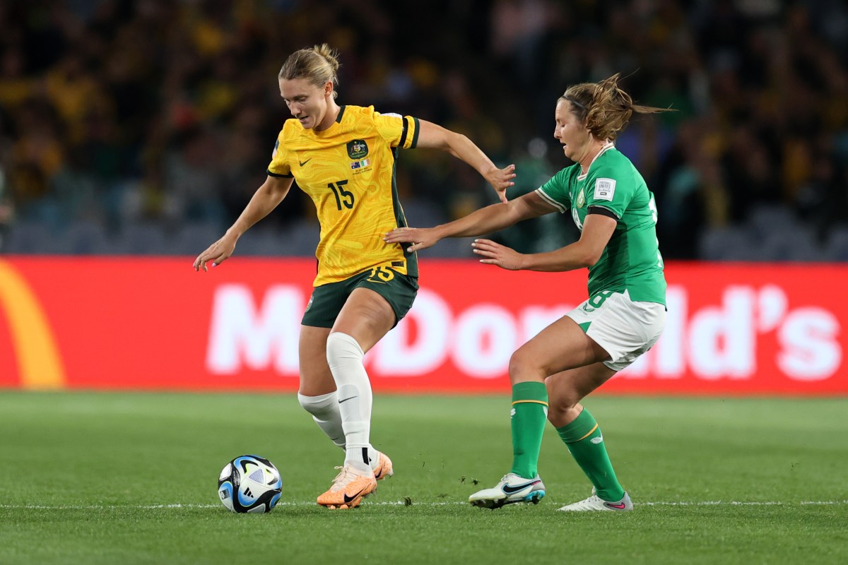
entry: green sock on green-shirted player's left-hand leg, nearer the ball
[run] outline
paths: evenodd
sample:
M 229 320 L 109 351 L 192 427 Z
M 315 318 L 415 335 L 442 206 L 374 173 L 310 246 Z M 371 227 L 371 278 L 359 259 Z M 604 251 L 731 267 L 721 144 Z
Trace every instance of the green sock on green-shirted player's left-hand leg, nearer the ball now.
M 544 383 L 527 381 L 512 385 L 512 469 L 525 479 L 538 474 L 538 452 L 548 420 L 548 390 Z M 618 499 L 616 499 L 618 500 Z

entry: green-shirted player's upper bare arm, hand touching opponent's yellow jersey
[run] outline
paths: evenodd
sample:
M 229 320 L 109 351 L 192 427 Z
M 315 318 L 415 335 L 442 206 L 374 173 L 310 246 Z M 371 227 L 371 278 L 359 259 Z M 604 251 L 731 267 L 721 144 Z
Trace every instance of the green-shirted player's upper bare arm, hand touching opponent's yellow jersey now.
M 435 245 L 445 237 L 490 234 L 493 231 L 508 228 L 522 219 L 536 218 L 555 210 L 556 208 L 533 191 L 506 203 L 480 208 L 465 218 L 455 219 L 453 222 L 437 225 L 434 228 L 395 228 L 389 231 L 382 240 L 387 243 L 411 243 L 407 251 L 421 251 Z

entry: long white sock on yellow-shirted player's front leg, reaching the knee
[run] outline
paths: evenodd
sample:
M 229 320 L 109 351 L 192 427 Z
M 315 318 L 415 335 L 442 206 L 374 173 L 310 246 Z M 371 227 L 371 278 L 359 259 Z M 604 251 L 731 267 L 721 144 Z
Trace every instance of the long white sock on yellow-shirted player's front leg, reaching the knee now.
M 360 344 L 350 335 L 333 332 L 326 339 L 326 360 L 338 388 L 338 411 L 347 447 L 344 464 L 362 471 L 371 468 L 369 459 L 374 458 L 369 439 L 373 396 L 371 381 L 362 364 L 364 355 Z

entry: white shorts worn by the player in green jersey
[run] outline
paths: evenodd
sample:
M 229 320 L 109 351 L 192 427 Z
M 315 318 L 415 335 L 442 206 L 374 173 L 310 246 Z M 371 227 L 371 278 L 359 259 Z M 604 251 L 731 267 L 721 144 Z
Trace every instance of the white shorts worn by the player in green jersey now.
M 610 354 L 604 364 L 620 371 L 648 351 L 666 327 L 666 307 L 657 302 L 633 302 L 628 291 L 602 292 L 566 316 Z

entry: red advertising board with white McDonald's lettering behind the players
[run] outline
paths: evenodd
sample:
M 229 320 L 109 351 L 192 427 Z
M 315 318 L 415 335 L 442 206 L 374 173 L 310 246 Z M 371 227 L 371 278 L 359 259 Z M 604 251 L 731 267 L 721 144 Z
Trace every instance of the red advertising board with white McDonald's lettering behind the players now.
M 294 391 L 315 261 L 0 259 L 0 387 Z M 509 390 L 511 352 L 586 274 L 421 260 L 410 314 L 367 354 L 377 392 Z M 667 263 L 667 327 L 602 391 L 848 394 L 848 266 Z M 827 289 L 837 292 L 828 292 Z

